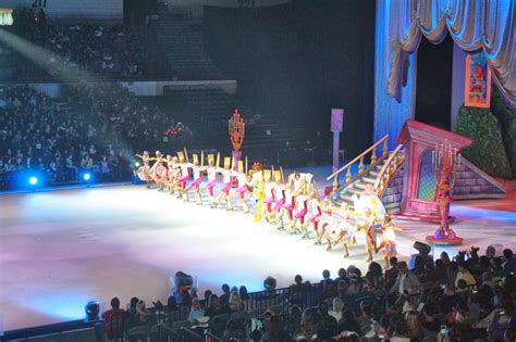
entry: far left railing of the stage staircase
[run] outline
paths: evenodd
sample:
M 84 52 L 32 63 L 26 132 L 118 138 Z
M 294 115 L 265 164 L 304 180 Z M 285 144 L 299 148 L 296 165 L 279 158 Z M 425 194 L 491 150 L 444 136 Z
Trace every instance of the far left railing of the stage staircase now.
M 382 147 L 382 154 L 380 156 L 377 156 L 377 148 L 383 143 Z M 327 180 L 330 180 L 333 178 L 333 192 L 339 191 L 358 178 L 363 177 L 366 173 L 368 173 L 371 168 L 377 166 L 381 161 L 383 161 L 388 155 L 389 155 L 389 135 L 384 136 L 377 142 L 374 142 L 373 145 L 371 145 L 369 149 L 360 153 L 358 156 L 356 156 L 353 161 L 344 165 L 343 167 L 339 168 L 336 172 L 331 174 L 329 177 L 327 177 Z M 364 160 L 370 155 L 371 159 L 371 164 L 369 164 L 368 167 L 364 166 Z M 352 174 L 352 167 L 358 163 L 358 173 L 356 175 Z M 346 181 L 343 185 L 339 185 L 339 176 L 342 173 L 346 173 Z

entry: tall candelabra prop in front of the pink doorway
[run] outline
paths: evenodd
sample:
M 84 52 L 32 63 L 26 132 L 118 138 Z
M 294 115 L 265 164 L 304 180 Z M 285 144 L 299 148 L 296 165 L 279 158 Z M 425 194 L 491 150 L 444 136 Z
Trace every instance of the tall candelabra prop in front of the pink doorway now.
M 432 163 L 438 183 L 435 201 L 439 202 L 441 221 L 434 235 L 428 236 L 426 240 L 433 244 L 460 244 L 463 239 L 457 237 L 450 227 L 450 204 L 453 200 L 451 193 L 460 167 L 460 152 L 453 148 L 447 140 L 444 140 L 444 142 L 437 144 L 432 151 Z

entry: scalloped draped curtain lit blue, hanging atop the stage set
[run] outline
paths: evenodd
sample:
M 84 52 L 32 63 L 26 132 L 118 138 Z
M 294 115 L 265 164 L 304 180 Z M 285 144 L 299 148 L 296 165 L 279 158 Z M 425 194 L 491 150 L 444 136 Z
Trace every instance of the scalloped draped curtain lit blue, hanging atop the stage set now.
M 450 33 L 466 51 L 482 49 L 508 106 L 516 109 L 516 0 L 379 0 L 390 12 L 386 90 L 401 102 L 404 64 L 421 36 L 433 43 Z M 378 25 L 378 24 L 377 24 Z

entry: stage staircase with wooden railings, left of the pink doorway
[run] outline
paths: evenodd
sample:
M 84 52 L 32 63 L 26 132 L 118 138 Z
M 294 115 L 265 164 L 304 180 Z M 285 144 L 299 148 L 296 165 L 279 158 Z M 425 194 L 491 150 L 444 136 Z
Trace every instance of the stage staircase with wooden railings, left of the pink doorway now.
M 382 198 L 405 161 L 403 145 L 398 144 L 396 149 L 389 151 L 388 142 L 389 135 L 328 176 L 327 180 L 332 180 L 331 199 L 334 204 L 346 202 L 353 208 L 353 195 L 363 193 L 368 185 Z M 341 175 L 345 177 L 342 183 Z

